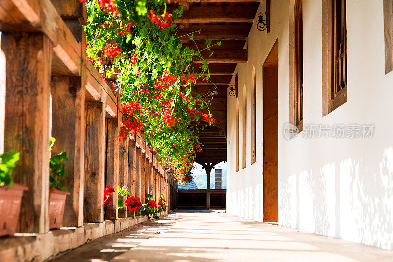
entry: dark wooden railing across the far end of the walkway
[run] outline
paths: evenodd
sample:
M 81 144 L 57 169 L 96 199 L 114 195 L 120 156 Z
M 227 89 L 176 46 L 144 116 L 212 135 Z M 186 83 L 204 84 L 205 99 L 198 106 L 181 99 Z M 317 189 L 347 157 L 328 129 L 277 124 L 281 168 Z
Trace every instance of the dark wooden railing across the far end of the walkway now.
M 179 209 L 226 208 L 226 189 L 179 189 Z

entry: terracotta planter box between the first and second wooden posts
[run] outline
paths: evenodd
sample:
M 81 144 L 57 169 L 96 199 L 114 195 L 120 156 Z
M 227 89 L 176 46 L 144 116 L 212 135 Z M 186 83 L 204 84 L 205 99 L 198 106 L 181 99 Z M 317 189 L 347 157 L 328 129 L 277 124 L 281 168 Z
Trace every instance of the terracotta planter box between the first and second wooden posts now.
M 54 188 L 49 189 L 49 228 L 61 228 L 64 216 L 65 198 L 70 192 L 58 190 Z

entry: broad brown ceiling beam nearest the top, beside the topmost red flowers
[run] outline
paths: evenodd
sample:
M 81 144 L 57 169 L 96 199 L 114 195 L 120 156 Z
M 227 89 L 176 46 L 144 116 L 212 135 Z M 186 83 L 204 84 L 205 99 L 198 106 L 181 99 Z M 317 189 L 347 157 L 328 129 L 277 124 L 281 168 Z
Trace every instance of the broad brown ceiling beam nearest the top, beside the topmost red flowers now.
M 172 13 L 175 8 L 168 6 Z M 193 6 L 175 23 L 253 23 L 258 6 Z

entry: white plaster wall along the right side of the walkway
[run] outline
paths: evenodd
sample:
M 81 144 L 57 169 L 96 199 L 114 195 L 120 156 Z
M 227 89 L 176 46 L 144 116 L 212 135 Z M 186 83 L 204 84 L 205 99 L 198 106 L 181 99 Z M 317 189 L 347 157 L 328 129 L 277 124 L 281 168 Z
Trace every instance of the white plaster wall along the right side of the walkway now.
M 265 12 L 265 1 L 259 7 Z M 259 12 L 258 11 L 258 12 Z M 271 3 L 271 33 L 253 25 L 249 61 L 239 64 L 239 172 L 235 173 L 236 98 L 228 98 L 227 212 L 263 220 L 262 64 L 279 41 L 279 224 L 393 249 L 393 72 L 385 75 L 381 0 L 347 0 L 348 101 L 322 117 L 322 4 L 303 0 L 304 122 L 375 124 L 372 139 L 287 140 L 289 121 L 289 0 Z M 242 87 L 257 82 L 257 161 L 242 169 Z M 232 79 L 234 83 L 234 78 Z M 251 100 L 247 97 L 248 112 Z

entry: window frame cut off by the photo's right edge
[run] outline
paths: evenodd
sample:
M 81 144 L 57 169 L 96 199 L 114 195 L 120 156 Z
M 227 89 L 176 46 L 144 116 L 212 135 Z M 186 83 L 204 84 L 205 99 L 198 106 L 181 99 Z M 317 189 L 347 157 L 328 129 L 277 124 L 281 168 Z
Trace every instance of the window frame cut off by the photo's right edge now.
M 393 71 L 393 0 L 384 0 L 385 74 Z

